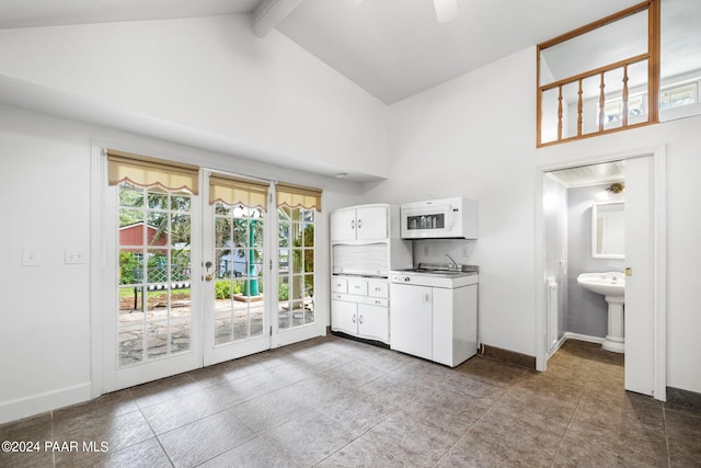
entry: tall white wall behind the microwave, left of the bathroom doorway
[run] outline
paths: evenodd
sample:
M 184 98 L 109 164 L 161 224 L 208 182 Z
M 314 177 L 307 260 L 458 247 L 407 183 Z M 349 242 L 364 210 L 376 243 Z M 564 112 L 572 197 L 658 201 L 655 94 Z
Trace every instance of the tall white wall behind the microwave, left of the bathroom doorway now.
M 366 202 L 479 201 L 480 341 L 535 355 L 536 61 L 529 48 L 391 106 L 387 182 Z M 540 179 L 542 183 L 542 178 Z

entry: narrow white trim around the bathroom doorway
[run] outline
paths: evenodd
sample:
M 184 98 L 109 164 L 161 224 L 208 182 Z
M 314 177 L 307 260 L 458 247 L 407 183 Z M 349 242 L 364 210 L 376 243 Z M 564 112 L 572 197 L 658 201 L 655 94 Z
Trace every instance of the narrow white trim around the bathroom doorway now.
M 535 181 L 536 218 L 536 369 L 548 367 L 545 310 L 545 230 L 543 214 L 543 176 L 545 172 L 621 159 L 653 158 L 653 397 L 666 401 L 667 384 L 667 151 L 666 145 L 643 147 L 611 153 L 595 153 L 541 162 Z

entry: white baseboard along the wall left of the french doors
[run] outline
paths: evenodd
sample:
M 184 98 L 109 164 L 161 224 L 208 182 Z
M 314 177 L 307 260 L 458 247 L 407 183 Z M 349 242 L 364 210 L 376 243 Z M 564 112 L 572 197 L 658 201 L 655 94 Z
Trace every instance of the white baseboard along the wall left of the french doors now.
M 0 424 L 88 401 L 92 398 L 91 389 L 92 385 L 88 381 L 44 393 L 2 401 L 0 402 Z

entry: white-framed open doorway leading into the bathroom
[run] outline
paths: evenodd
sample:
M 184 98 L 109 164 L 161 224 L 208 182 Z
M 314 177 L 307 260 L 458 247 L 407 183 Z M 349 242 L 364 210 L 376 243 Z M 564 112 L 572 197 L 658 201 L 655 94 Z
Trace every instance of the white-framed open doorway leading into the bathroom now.
M 568 339 L 604 344 L 616 334 L 610 297 L 577 282 L 616 272 L 624 278 L 625 389 L 664 400 L 664 148 L 552 164 L 541 175 L 538 368 Z

